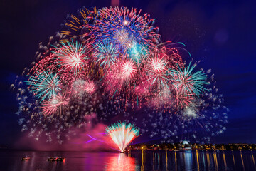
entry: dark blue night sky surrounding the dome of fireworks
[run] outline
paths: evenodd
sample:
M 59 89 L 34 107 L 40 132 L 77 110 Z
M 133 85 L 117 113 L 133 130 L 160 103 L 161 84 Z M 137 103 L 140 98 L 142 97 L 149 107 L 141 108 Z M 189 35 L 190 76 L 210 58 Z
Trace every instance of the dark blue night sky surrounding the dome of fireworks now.
M 102 8 L 110 0 L 0 1 L 0 145 L 21 136 L 16 94 L 9 86 L 35 60 L 38 43 L 60 31 L 67 14 L 82 6 Z M 256 143 L 256 1 L 121 0 L 156 19 L 162 41 L 181 41 L 199 67 L 215 73 L 230 109 L 227 131 L 215 143 Z

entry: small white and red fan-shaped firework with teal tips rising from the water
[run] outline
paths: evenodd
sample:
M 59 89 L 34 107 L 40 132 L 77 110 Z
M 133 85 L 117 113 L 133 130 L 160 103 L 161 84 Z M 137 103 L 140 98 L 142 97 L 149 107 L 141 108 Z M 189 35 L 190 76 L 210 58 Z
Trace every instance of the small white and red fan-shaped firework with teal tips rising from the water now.
M 107 127 L 106 132 L 119 147 L 120 152 L 124 152 L 127 145 L 139 135 L 139 128 L 132 124 L 117 123 Z

